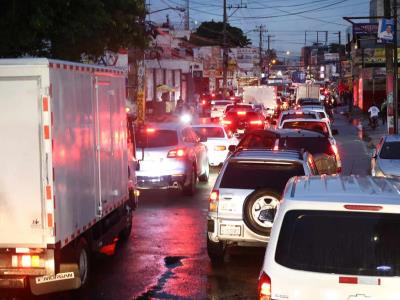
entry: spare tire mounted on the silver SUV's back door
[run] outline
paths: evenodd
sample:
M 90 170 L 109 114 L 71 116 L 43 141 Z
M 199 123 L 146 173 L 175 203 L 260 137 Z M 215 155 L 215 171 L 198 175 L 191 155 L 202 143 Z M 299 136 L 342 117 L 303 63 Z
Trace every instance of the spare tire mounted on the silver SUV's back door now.
M 258 235 L 269 236 L 272 222 L 260 220 L 261 213 L 266 211 L 273 220 L 280 199 L 281 195 L 271 189 L 259 189 L 251 193 L 243 205 L 243 220 L 247 227 Z

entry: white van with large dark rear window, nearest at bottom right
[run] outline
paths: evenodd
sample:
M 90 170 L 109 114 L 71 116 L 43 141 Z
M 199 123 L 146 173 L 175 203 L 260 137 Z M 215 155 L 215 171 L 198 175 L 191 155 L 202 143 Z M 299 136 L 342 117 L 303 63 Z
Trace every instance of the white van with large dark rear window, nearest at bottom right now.
M 278 208 L 259 299 L 400 299 L 400 182 L 292 178 Z

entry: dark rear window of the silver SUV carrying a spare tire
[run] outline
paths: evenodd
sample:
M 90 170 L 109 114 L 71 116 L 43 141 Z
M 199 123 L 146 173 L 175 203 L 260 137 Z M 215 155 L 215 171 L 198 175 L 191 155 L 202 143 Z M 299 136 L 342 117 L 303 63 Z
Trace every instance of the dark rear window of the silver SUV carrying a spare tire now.
M 248 163 L 231 161 L 222 176 L 220 188 L 270 188 L 282 193 L 291 177 L 302 175 L 304 175 L 303 166 L 296 162 Z

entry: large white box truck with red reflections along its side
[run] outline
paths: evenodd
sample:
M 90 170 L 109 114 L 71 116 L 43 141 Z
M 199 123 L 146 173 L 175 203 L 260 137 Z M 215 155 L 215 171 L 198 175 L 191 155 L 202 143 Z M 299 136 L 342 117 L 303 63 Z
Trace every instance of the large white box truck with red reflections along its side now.
M 129 236 L 137 204 L 125 75 L 1 59 L 0 113 L 0 288 L 84 286 L 91 254 Z

